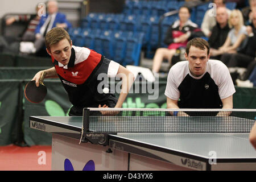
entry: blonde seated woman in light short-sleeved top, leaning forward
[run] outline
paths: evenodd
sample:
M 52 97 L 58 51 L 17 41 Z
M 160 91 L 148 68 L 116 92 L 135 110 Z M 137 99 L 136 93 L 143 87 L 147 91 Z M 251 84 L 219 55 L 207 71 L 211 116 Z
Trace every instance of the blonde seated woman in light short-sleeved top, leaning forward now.
M 225 64 L 226 60 L 229 60 L 228 56 L 231 56 L 231 53 L 241 51 L 247 43 L 247 31 L 243 25 L 243 16 L 240 10 L 233 10 L 230 14 L 229 27 L 232 30 L 229 31 L 225 43 L 213 54 L 213 56 L 222 55 L 220 60 Z

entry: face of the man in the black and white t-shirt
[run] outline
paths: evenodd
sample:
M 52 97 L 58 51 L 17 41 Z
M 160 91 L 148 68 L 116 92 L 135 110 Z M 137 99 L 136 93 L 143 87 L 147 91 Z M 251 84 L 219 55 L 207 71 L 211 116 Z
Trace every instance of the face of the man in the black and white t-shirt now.
M 206 47 L 202 50 L 195 46 L 191 46 L 188 55 L 185 53 L 185 57 L 188 60 L 191 75 L 198 77 L 204 74 L 209 59 Z

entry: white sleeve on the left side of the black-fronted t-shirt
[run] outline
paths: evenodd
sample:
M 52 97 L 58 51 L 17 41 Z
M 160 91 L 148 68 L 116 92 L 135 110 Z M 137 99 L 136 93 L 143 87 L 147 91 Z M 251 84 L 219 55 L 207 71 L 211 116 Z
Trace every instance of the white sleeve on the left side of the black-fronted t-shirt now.
M 177 85 L 177 83 L 175 82 L 174 72 L 172 68 L 168 73 L 166 91 L 164 92 L 164 94 L 172 100 L 177 101 L 180 98 L 180 92 L 177 89 L 179 85 Z

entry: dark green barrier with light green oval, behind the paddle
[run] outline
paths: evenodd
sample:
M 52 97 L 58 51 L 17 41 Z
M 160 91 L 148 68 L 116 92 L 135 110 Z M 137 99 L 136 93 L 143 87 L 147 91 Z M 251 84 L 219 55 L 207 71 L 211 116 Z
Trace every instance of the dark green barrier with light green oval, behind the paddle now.
M 25 82 L 26 84 L 26 82 Z M 47 96 L 39 104 L 32 104 L 24 98 L 24 123 L 23 133 L 24 141 L 28 146 L 32 145 L 51 145 L 51 134 L 30 129 L 29 117 L 31 115 L 49 115 L 65 116 L 72 106 L 68 100 L 68 94 L 65 92 L 59 80 L 44 80 L 47 86 Z

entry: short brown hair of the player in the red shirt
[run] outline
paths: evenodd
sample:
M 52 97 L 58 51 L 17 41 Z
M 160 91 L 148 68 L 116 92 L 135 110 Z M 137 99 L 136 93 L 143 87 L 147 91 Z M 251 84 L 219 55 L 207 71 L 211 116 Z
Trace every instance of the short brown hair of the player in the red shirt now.
M 46 38 L 44 38 L 46 42 L 46 48 L 50 51 L 50 47 L 53 44 L 59 43 L 60 40 L 67 39 L 69 44 L 71 44 L 71 39 L 68 32 L 64 28 L 52 28 L 47 32 Z

